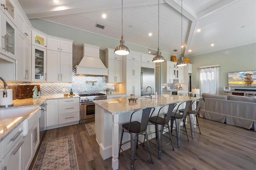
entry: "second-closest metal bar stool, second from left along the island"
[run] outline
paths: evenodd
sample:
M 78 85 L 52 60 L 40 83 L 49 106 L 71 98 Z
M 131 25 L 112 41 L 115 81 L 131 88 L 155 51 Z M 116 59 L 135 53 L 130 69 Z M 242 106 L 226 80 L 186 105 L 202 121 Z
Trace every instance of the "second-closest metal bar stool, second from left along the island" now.
M 176 106 L 176 103 L 167 104 L 167 105 L 162 106 L 159 109 L 157 116 L 150 117 L 149 121 L 148 121 L 151 125 L 155 125 L 155 127 L 156 127 L 156 139 L 158 139 L 157 143 L 158 143 L 158 158 L 159 159 L 161 159 L 161 151 L 162 151 L 162 142 L 161 142 L 161 140 L 162 140 L 162 136 L 164 136 L 163 135 L 163 130 L 164 130 L 164 126 L 166 126 L 166 125 L 168 126 L 170 140 L 171 140 L 168 144 L 172 143 L 172 136 L 171 136 L 171 133 L 170 133 L 169 121 L 170 121 L 171 114 L 172 114 L 172 111 L 173 111 L 175 106 Z M 165 108 L 165 107 L 168 107 L 168 111 L 166 113 L 166 116 L 164 118 L 162 118 L 162 117 L 159 116 L 159 113 L 160 113 L 161 109 Z M 164 146 L 166 146 L 168 144 L 165 144 Z M 174 150 L 173 144 L 172 144 L 172 150 Z

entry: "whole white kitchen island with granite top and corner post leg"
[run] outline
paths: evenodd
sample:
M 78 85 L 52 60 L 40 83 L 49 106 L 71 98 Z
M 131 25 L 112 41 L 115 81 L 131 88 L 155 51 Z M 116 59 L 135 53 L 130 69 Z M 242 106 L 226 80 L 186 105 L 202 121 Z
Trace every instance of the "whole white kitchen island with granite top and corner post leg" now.
M 128 98 L 94 101 L 95 132 L 96 140 L 100 146 L 100 155 L 104 160 L 112 156 L 112 168 L 113 170 L 118 169 L 119 142 L 122 132 L 122 126 L 119 125 L 129 122 L 130 115 L 133 111 L 145 107 L 155 107 L 156 110 L 153 115 L 157 115 L 162 105 L 177 103 L 176 107 L 178 107 L 178 103 L 193 99 L 196 98 L 178 95 L 158 95 L 158 99 L 142 97 L 138 98 L 134 103 L 130 103 Z M 176 111 L 176 108 L 174 108 L 174 111 Z M 153 125 L 151 127 L 148 126 L 148 134 L 150 134 L 150 132 L 154 132 L 154 130 L 155 128 Z M 154 134 L 150 134 L 148 138 L 154 138 Z M 143 141 L 143 139 L 139 138 L 140 141 Z M 123 142 L 126 142 L 127 140 L 130 140 L 130 135 L 124 134 Z M 130 143 L 124 145 L 124 150 L 128 148 L 130 148 Z

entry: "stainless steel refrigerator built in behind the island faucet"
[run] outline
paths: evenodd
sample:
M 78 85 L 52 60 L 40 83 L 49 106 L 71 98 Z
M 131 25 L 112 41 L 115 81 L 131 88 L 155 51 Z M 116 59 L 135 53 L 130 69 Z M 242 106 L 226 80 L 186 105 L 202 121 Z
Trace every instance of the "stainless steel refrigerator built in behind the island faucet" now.
M 141 67 L 141 95 L 146 96 L 151 94 L 151 89 L 146 88 L 148 86 L 152 87 L 153 94 L 155 92 L 155 69 Z

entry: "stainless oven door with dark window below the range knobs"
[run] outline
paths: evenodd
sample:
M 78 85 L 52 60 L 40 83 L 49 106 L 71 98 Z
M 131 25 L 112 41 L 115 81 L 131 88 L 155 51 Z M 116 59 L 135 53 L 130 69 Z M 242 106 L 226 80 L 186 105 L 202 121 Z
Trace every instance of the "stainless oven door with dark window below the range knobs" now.
M 80 120 L 90 119 L 95 117 L 94 103 L 80 103 Z

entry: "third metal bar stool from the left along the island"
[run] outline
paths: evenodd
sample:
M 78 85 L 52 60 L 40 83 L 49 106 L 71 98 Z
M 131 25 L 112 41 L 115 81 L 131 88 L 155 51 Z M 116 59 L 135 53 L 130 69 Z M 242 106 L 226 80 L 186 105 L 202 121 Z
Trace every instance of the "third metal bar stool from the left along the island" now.
M 179 108 L 184 103 L 186 103 L 184 113 L 180 114 L 180 113 L 178 113 Z M 178 108 L 177 108 L 176 112 L 172 112 L 172 115 L 171 115 L 171 132 L 172 132 L 172 128 L 173 128 L 173 122 L 175 120 L 178 148 L 180 147 L 180 121 L 181 120 L 183 121 L 183 125 L 185 127 L 185 132 L 186 132 L 187 138 L 188 138 L 185 118 L 186 118 L 186 115 L 187 115 L 188 108 L 190 107 L 190 104 L 191 104 L 191 101 L 184 101 L 184 102 L 180 103 L 180 105 L 178 105 Z M 164 114 L 164 115 L 167 116 L 167 114 Z M 188 141 L 189 141 L 189 138 L 188 138 Z

